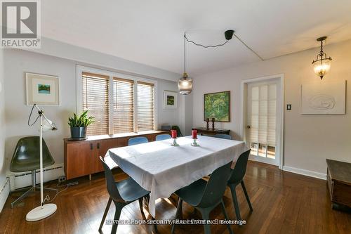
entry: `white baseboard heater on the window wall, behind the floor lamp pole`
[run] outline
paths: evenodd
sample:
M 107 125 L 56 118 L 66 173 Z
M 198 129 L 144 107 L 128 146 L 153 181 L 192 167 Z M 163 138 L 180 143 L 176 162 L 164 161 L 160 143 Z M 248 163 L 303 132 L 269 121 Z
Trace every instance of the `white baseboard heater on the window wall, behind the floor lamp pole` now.
M 40 182 L 39 171 L 40 170 L 37 170 L 36 173 L 37 183 Z M 49 167 L 44 168 L 43 172 L 44 182 L 56 180 L 59 176 L 65 176 L 63 164 L 53 164 Z M 7 174 L 7 176 L 10 178 L 11 191 L 32 185 L 32 171 L 10 172 Z

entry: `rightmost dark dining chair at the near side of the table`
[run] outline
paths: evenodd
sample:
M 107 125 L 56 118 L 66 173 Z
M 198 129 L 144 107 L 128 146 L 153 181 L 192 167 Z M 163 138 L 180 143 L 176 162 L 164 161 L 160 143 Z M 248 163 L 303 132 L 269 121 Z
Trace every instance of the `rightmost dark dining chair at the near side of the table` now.
M 239 183 L 241 184 L 241 187 L 244 190 L 244 194 L 246 197 L 246 201 L 249 204 L 250 211 L 251 212 L 253 211 L 250 198 L 249 198 L 249 195 L 247 194 L 245 184 L 244 184 L 244 179 L 243 179 L 246 173 L 247 160 L 249 160 L 250 151 L 251 150 L 247 150 L 239 156 L 237 162 L 235 163 L 234 169 L 232 169 L 232 175 L 230 176 L 227 182 L 227 185 L 229 186 L 230 191 L 232 192 L 235 215 L 237 216 L 238 220 L 241 219 L 241 216 L 240 216 L 239 204 L 237 200 L 237 192 L 235 191 L 235 188 L 237 188 Z

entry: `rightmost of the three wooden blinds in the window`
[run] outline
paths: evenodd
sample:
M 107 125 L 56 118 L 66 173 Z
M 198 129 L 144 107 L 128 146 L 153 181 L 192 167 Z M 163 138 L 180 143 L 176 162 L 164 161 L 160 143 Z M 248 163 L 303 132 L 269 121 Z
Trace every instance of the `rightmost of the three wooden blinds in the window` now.
M 154 130 L 154 84 L 138 82 L 138 131 Z

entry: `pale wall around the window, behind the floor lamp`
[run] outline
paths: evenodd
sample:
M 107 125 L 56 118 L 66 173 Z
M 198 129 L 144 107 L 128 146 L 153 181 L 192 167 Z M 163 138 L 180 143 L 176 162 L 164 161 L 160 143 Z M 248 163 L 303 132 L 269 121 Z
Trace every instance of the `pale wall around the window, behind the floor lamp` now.
M 87 55 L 88 53 L 85 53 Z M 92 54 L 94 56 L 95 53 Z M 55 163 L 63 162 L 63 138 L 69 137 L 69 126 L 67 119 L 72 112 L 76 110 L 76 65 L 77 61 L 58 58 L 54 56 L 47 56 L 41 53 L 33 53 L 31 51 L 6 49 L 4 51 L 4 73 L 5 82 L 5 114 L 6 114 L 6 144 L 5 156 L 7 160 L 8 169 L 15 144 L 22 136 L 37 135 L 37 127 L 29 127 L 27 125 L 27 118 L 31 110 L 31 106 L 25 105 L 25 72 L 34 72 L 41 74 L 57 75 L 60 79 L 60 106 L 45 106 L 45 114 L 58 125 L 58 131 L 49 131 L 44 134 L 44 139 L 48 144 L 49 150 L 54 157 Z M 79 65 L 86 65 L 96 68 L 107 69 L 97 65 L 89 65 L 86 63 L 78 63 Z M 130 73 L 133 63 L 128 62 L 128 70 Z M 114 72 L 121 72 L 119 70 L 112 70 Z M 138 67 L 138 66 L 136 66 Z M 140 67 L 139 67 L 140 68 Z M 146 72 L 138 69 L 140 74 L 149 74 L 150 67 Z M 163 77 L 167 76 L 166 72 L 161 72 Z M 173 76 L 173 73 L 169 73 Z M 150 78 L 150 77 L 148 77 Z M 169 78 L 169 77 L 168 77 Z M 176 82 L 169 80 L 157 79 L 158 84 L 158 122 L 159 124 L 179 124 L 178 111 L 168 110 L 162 107 L 163 91 L 171 90 L 177 91 L 178 86 Z M 181 97 L 180 97 L 181 98 Z M 1 105 L 0 105 L 1 107 Z M 1 110 L 1 109 L 0 109 Z M 1 116 L 0 116 L 1 120 Z M 33 120 L 33 119 L 32 119 Z M 182 121 L 183 122 L 183 121 Z M 0 122 L 1 124 L 1 122 Z M 0 142 L 1 149 L 1 142 Z M 1 153 L 1 152 L 0 152 Z M 0 154 L 1 163 L 1 154 Z

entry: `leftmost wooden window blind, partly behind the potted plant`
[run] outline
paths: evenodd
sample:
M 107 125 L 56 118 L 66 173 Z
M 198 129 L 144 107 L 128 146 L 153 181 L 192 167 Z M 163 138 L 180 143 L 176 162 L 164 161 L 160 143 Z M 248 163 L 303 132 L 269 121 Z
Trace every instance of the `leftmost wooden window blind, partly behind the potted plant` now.
M 101 74 L 82 73 L 83 110 L 95 117 L 95 123 L 88 126 L 88 136 L 109 134 L 109 79 Z

